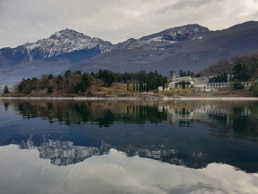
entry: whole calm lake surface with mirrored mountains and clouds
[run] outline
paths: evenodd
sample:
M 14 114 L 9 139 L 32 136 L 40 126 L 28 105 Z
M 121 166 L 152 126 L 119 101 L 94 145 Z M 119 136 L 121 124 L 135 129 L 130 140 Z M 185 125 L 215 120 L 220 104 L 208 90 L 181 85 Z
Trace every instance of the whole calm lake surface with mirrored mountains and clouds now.
M 0 193 L 258 193 L 258 102 L 0 99 Z

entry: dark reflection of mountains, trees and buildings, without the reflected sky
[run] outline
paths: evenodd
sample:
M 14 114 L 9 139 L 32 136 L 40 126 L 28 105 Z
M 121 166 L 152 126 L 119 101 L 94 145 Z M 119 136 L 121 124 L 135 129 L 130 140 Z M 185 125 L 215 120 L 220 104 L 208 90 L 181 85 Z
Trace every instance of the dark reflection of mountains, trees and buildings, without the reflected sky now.
M 0 144 L 38 149 L 40 158 L 54 165 L 75 164 L 114 148 L 127 156 L 194 169 L 222 162 L 258 171 L 257 102 L 2 99 L 0 103 L 4 112 L 24 119 L 0 125 Z M 28 128 L 28 119 L 36 121 L 37 130 Z

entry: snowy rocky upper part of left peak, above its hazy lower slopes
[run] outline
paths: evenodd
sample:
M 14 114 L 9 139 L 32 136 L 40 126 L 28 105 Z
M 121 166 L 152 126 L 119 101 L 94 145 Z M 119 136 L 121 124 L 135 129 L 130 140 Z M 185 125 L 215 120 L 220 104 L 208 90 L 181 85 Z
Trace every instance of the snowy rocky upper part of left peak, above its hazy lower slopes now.
M 100 38 L 91 38 L 71 29 L 55 32 L 48 38 L 25 43 L 16 48 L 2 48 L 0 54 L 14 62 L 55 57 L 82 49 L 97 48 L 100 53 L 109 51 L 113 44 Z

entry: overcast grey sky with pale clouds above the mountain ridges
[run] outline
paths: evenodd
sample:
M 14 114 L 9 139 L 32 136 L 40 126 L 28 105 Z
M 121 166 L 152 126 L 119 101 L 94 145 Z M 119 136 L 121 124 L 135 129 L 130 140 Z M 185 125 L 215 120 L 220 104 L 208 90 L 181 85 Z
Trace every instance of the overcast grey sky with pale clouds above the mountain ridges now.
M 258 0 L 0 0 L 0 48 L 65 28 L 113 44 L 198 23 L 210 30 L 258 20 Z

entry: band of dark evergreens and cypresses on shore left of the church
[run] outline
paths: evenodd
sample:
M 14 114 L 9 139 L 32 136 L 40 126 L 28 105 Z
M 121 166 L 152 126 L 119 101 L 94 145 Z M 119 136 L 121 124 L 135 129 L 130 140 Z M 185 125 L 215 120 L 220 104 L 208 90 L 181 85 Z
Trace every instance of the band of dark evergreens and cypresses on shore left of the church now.
M 40 79 L 33 77 L 32 79 L 22 79 L 17 84 L 16 91 L 19 93 L 30 93 L 33 90 L 47 89 L 48 93 L 56 90 L 59 93 L 85 93 L 91 94 L 90 88 L 96 86 L 99 91 L 101 87 L 111 87 L 118 90 L 119 87 L 115 83 L 133 83 L 133 91 L 151 91 L 157 89 L 158 86 L 163 86 L 168 83 L 168 78 L 162 76 L 157 71 L 146 73 L 140 72 L 125 72 L 114 73 L 109 70 L 100 69 L 98 72 L 82 73 L 80 70 L 71 72 L 67 70 L 64 75 L 54 76 L 52 74 L 43 74 Z M 136 87 L 136 88 L 135 88 Z M 128 87 L 127 87 L 128 88 Z M 128 88 L 129 90 L 129 88 Z

